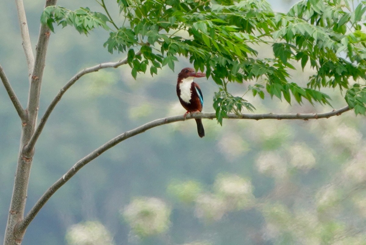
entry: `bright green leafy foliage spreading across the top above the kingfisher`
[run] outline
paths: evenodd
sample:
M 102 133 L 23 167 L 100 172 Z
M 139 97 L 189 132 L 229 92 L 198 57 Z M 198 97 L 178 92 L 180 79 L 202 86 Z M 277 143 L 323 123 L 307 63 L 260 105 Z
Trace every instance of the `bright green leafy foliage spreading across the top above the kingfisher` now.
M 228 82 L 254 82 L 249 89 L 262 99 L 265 87 L 271 97 L 283 96 L 288 103 L 294 97 L 298 103 L 305 99 L 329 104 L 329 96 L 320 89 L 343 90 L 351 79 L 366 80 L 365 1 L 352 9 L 348 1 L 303 0 L 286 14 L 274 13 L 265 0 L 117 0 L 117 4 L 123 23 L 113 22 L 103 1 L 108 17 L 87 8 L 70 11 L 52 6 L 41 21 L 51 30 L 53 23 L 72 25 L 85 34 L 98 26 L 109 30 L 104 46 L 111 53 L 127 52 L 134 78 L 148 67 L 151 75 L 165 65 L 174 70 L 178 56 L 188 58 L 219 86 L 214 108 L 220 124 L 227 113 L 254 109 L 229 94 Z M 267 58 L 257 56 L 263 45 L 273 48 Z M 314 70 L 306 88 L 289 81 L 297 62 L 302 69 L 310 63 Z M 346 101 L 356 106 L 351 99 Z M 363 109 L 355 112 L 364 114 L 365 103 L 357 106 Z

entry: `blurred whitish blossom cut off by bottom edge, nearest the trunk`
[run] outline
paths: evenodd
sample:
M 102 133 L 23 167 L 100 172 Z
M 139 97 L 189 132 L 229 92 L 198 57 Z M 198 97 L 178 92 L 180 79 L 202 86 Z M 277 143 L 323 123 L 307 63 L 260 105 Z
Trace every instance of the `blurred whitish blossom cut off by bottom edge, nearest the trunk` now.
M 69 245 L 112 245 L 111 233 L 97 221 L 72 225 L 66 233 Z

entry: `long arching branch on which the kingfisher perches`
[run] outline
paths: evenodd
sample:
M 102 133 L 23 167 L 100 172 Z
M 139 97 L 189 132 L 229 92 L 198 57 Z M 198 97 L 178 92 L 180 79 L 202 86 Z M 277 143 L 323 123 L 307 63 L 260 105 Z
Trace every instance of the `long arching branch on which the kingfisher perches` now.
M 327 113 L 310 113 L 310 114 L 274 114 L 274 113 L 266 113 L 266 114 L 241 114 L 237 115 L 234 113 L 229 113 L 227 118 L 234 118 L 234 119 L 253 119 L 253 120 L 261 120 L 261 119 L 300 119 L 300 120 L 309 120 L 309 119 L 319 119 L 319 118 L 329 118 L 333 116 L 339 116 L 340 114 L 351 110 L 350 107 L 345 106 L 338 110 L 333 110 Z M 187 119 L 193 118 L 208 118 L 213 119 L 216 118 L 215 113 L 194 113 L 192 115 L 188 114 Z M 31 210 L 26 215 L 25 219 L 19 223 L 18 230 L 25 230 L 30 222 L 34 219 L 40 209 L 45 205 L 45 203 L 51 198 L 51 196 L 61 187 L 63 186 L 72 176 L 76 174 L 82 167 L 84 167 L 87 163 L 94 160 L 94 158 L 100 156 L 100 154 L 104 153 L 108 149 L 112 148 L 113 146 L 117 145 L 118 143 L 126 140 L 132 136 L 137 134 L 141 134 L 148 129 L 168 124 L 177 121 L 184 121 L 186 120 L 183 115 L 173 116 L 173 117 L 166 117 L 157 119 L 151 122 L 148 122 L 138 128 L 132 129 L 130 131 L 124 132 L 123 134 L 118 135 L 117 137 L 109 140 L 104 145 L 100 146 L 98 149 L 92 151 L 87 156 L 79 160 L 75 163 L 75 165 L 69 169 L 59 180 L 57 180 L 49 189 L 41 196 L 41 198 L 36 202 L 36 204 L 31 208 Z

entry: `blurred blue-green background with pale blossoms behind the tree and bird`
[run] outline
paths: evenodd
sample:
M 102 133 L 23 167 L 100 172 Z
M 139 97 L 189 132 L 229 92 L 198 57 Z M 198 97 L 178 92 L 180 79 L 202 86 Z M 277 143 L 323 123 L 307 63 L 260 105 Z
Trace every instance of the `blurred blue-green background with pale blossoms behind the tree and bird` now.
M 287 11 L 291 1 L 270 1 Z M 31 41 L 37 42 L 44 1 L 24 1 Z M 94 1 L 59 1 L 90 7 Z M 115 1 L 106 1 L 115 21 Z M 0 63 L 22 102 L 27 68 L 13 1 L 0 1 Z M 82 36 L 56 28 L 51 34 L 41 91 L 40 115 L 78 71 L 124 54 L 102 47 L 103 30 Z M 271 47 L 263 47 L 263 54 Z M 295 64 L 296 65 L 296 64 Z M 130 67 L 82 77 L 56 106 L 36 145 L 26 211 L 72 165 L 109 139 L 156 118 L 183 114 L 175 72 L 139 74 Z M 300 67 L 300 66 L 298 66 Z M 306 84 L 312 74 L 294 71 Z M 212 80 L 196 79 L 213 112 Z M 247 84 L 232 84 L 242 95 Z M 237 91 L 237 92 L 234 92 Z M 329 89 L 334 108 L 346 105 Z M 288 105 L 246 95 L 257 113 L 326 112 L 329 106 Z M 0 88 L 0 240 L 7 222 L 20 138 L 20 120 Z M 38 213 L 23 244 L 366 244 L 365 118 L 347 112 L 310 121 L 194 120 L 150 129 L 87 164 Z M 84 238 L 83 238 L 84 237 Z M 87 240 L 90 238 L 90 241 Z M 84 239 L 84 240 L 83 240 Z M 86 239 L 86 240 L 85 240 Z

